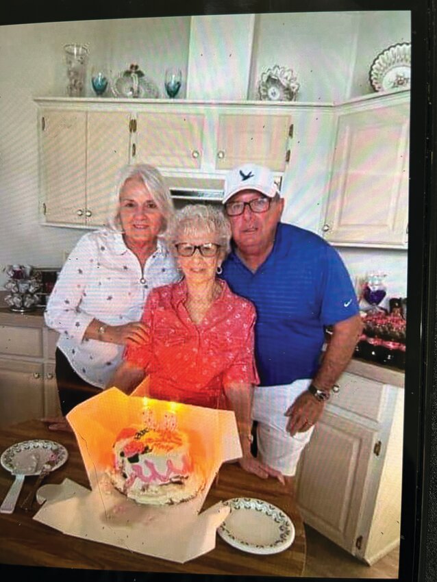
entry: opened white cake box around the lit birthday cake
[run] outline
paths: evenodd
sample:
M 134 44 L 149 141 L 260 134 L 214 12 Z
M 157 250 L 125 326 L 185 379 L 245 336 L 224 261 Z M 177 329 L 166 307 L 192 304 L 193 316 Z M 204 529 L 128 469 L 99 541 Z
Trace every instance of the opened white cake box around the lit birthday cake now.
M 121 429 L 141 425 L 146 407 L 158 423 L 164 422 L 166 414 L 175 414 L 177 428 L 188 434 L 192 458 L 205 474 L 205 488 L 190 501 L 142 505 L 110 483 L 107 470 L 112 466 L 116 435 Z M 70 479 L 42 486 L 37 498 L 45 503 L 35 520 L 68 535 L 179 563 L 215 547 L 216 529 L 229 509 L 218 503 L 199 512 L 221 464 L 242 455 L 234 412 L 126 396 L 110 388 L 77 405 L 67 419 L 91 489 Z

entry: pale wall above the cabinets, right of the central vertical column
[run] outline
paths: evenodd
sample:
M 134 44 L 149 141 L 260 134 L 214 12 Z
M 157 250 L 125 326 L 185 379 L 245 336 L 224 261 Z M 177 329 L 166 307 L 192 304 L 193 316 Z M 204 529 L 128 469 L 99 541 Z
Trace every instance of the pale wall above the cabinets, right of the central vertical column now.
M 255 25 L 249 97 L 261 73 L 275 64 L 292 68 L 297 101 L 338 103 L 373 93 L 369 70 L 396 42 L 410 42 L 410 12 L 260 14 Z

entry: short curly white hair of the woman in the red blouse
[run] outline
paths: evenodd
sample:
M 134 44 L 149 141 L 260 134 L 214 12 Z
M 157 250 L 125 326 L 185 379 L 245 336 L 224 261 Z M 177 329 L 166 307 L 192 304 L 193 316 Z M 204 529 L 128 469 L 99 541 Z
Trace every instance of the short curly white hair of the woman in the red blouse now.
M 177 210 L 165 233 L 168 248 L 175 253 L 175 244 L 184 242 L 184 236 L 203 230 L 216 238 L 224 258 L 231 250 L 231 225 L 221 207 L 212 204 L 187 204 Z

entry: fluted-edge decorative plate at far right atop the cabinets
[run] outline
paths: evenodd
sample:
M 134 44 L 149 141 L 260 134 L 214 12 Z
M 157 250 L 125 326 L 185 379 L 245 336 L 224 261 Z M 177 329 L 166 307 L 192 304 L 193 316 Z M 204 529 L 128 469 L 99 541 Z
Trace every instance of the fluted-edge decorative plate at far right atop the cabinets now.
M 410 42 L 392 45 L 379 53 L 369 71 L 370 83 L 375 91 L 409 89 L 410 75 Z

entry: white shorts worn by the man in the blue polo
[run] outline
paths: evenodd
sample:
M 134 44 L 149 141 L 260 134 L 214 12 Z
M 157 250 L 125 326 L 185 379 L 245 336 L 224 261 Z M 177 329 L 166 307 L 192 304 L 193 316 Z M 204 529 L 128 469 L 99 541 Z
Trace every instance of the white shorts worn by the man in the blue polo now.
M 291 384 L 256 386 L 253 389 L 252 419 L 258 421 L 258 456 L 263 463 L 287 477 L 296 474 L 297 462 L 303 448 L 310 442 L 314 427 L 291 436 L 286 431 L 289 417 L 285 412 L 310 383 L 310 379 L 301 379 Z

